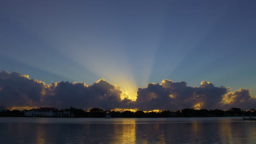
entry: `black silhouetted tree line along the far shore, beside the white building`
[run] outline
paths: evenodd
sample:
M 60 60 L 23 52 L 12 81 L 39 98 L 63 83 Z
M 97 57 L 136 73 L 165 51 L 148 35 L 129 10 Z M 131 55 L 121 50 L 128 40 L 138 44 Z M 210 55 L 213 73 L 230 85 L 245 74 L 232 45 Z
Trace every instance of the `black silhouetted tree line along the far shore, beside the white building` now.
M 252 110 L 241 110 L 239 108 L 232 108 L 230 110 L 194 110 L 194 109 L 183 109 L 177 111 L 164 110 L 159 112 L 144 112 L 144 111 L 113 111 L 113 110 L 102 110 L 100 108 L 93 108 L 89 111 L 82 109 L 65 109 L 74 113 L 74 117 L 91 117 L 91 118 L 103 118 L 109 115 L 113 118 L 157 118 L 157 117 L 234 117 L 234 116 L 256 116 L 256 111 Z M 28 110 L 3 110 L 0 112 L 0 117 L 25 117 L 24 113 Z

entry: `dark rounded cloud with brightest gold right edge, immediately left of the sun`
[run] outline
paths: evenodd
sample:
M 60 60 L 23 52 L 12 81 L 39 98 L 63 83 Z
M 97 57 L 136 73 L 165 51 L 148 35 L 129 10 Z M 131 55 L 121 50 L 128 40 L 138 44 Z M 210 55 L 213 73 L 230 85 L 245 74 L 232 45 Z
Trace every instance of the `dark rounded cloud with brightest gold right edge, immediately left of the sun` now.
M 127 105 L 128 97 L 117 85 L 113 85 L 104 79 L 88 86 L 83 82 L 57 82 L 51 84 L 51 93 L 46 96 L 45 103 L 60 107 L 76 106 L 83 109 L 100 107 L 109 110 Z

